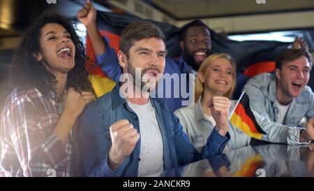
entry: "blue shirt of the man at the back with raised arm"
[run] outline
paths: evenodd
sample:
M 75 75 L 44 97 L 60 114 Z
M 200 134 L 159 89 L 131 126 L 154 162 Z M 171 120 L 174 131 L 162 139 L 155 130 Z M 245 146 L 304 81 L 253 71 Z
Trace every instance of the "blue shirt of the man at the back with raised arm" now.
M 104 37 L 104 40 L 106 42 L 106 50 L 105 53 L 103 53 L 103 55 L 97 55 L 96 59 L 97 59 L 97 65 L 100 66 L 101 70 L 112 80 L 114 80 L 115 82 L 119 82 L 119 78 L 122 74 L 121 71 L 121 67 L 119 65 L 119 61 L 117 58 L 117 53 L 115 52 L 115 50 L 113 48 L 111 48 L 109 46 L 109 40 L 107 38 Z M 172 112 L 174 112 L 177 108 L 181 108 L 182 106 L 184 106 L 182 104 L 182 101 L 186 101 L 189 100 L 189 97 L 186 97 L 186 92 L 194 92 L 193 90 L 190 90 L 190 87 L 194 87 L 195 85 L 195 71 L 193 71 L 193 69 L 188 66 L 188 63 L 185 61 L 184 59 L 184 54 L 182 53 L 180 57 L 167 57 L 165 59 L 165 71 L 164 73 L 168 73 L 170 75 L 172 74 L 178 74 L 180 75 L 182 74 L 186 74 L 186 78 L 179 78 L 179 83 L 174 83 L 173 80 L 171 80 L 171 85 L 172 88 L 170 88 L 169 90 L 166 90 L 166 85 L 165 85 L 165 80 L 163 82 L 163 92 L 164 92 L 164 98 L 165 98 L 165 104 L 168 108 L 170 108 L 170 110 Z M 193 73 L 193 77 L 191 78 L 189 77 L 189 73 Z M 189 82 L 191 83 L 189 86 Z M 182 83 L 182 84 L 181 84 Z M 160 83 L 161 85 L 161 83 Z M 174 95 L 174 90 L 176 89 L 176 87 L 179 87 L 180 93 L 179 93 L 179 97 L 175 97 Z M 170 92 L 171 91 L 171 97 L 165 97 L 165 91 Z M 181 91 L 184 91 L 184 94 L 182 94 Z M 191 94 L 191 102 L 190 104 L 193 103 L 194 99 L 193 99 L 194 94 Z M 190 105 L 190 104 L 186 104 L 186 105 Z

